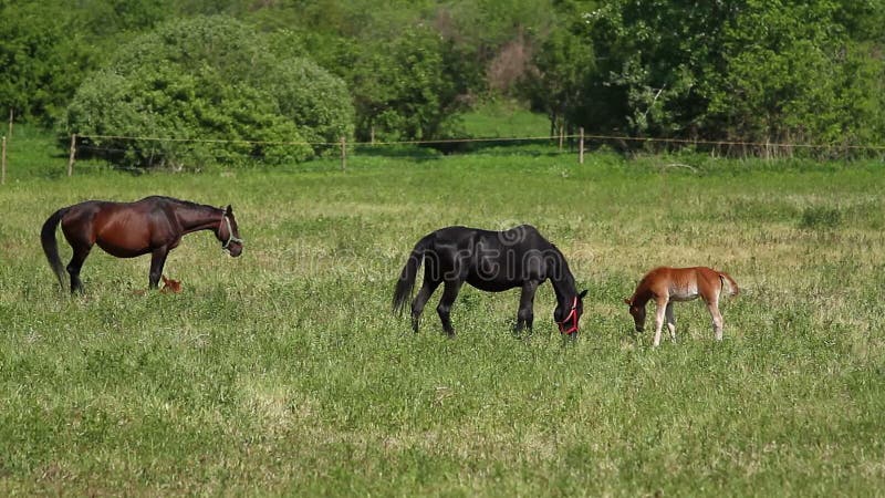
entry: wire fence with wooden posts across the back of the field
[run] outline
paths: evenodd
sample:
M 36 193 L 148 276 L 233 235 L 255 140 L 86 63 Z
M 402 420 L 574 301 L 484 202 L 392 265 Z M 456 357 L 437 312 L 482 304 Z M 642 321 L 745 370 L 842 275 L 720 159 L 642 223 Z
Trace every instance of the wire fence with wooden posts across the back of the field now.
M 347 141 L 342 137 L 337 142 L 309 141 L 244 141 L 222 138 L 157 137 L 125 135 L 88 135 L 71 136 L 67 176 L 73 175 L 74 165 L 82 158 L 104 158 L 115 163 L 132 159 L 137 166 L 155 166 L 153 163 L 165 160 L 168 154 L 181 157 L 196 157 L 196 160 L 235 164 L 243 156 L 252 163 L 270 163 L 260 151 L 273 148 L 277 160 L 294 157 L 299 148 L 311 149 L 309 155 L 323 151 L 325 157 L 337 155 L 341 168 L 346 169 L 348 156 L 392 156 L 433 158 L 445 154 L 544 154 L 572 155 L 579 164 L 584 163 L 584 155 L 600 149 L 623 154 L 667 154 L 691 153 L 710 154 L 716 157 L 739 158 L 793 158 L 809 157 L 824 160 L 878 159 L 885 160 L 885 145 L 855 144 L 806 144 L 749 141 L 710 141 L 694 138 L 636 137 L 628 135 L 585 134 L 579 133 L 543 136 L 511 137 L 462 137 L 440 139 L 403 139 L 403 141 Z M 3 137 L 0 151 L 0 184 L 6 181 L 7 141 Z M 260 151 L 259 151 L 260 149 Z M 259 151 L 258 153 L 256 151 Z M 135 152 L 135 153 L 134 153 Z M 133 157 L 135 157 L 133 159 Z M 165 163 L 159 163 L 165 165 Z

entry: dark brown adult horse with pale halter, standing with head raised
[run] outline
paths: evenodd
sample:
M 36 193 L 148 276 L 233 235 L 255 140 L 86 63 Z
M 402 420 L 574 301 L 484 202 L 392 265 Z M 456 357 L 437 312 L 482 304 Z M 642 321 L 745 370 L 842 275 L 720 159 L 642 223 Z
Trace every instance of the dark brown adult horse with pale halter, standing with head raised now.
M 145 197 L 135 203 L 86 200 L 53 212 L 43 224 L 40 241 L 50 267 L 64 288 L 64 270 L 59 258 L 55 229 L 61 224 L 64 238 L 74 250 L 67 273 L 71 292 L 83 292 L 80 269 L 83 261 L 98 245 L 117 258 L 150 255 L 149 288 L 156 289 L 169 251 L 178 247 L 181 236 L 198 230 L 212 230 L 221 248 L 230 256 L 242 252 L 237 220 L 230 206 L 226 209 L 173 199 Z

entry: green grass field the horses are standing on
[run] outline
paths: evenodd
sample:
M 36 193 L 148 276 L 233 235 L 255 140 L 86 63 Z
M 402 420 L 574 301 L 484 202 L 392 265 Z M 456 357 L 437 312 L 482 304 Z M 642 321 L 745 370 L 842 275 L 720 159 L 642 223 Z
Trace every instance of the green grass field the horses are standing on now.
M 19 154 L 0 189 L 1 495 L 883 494 L 881 164 L 354 155 L 346 173 L 69 179 L 48 173 L 66 158 Z M 187 236 L 165 271 L 184 292 L 137 295 L 148 259 L 96 248 L 86 294 L 60 292 L 43 220 L 152 194 L 232 204 L 243 256 Z M 419 334 L 391 314 L 423 235 L 521 222 L 590 290 L 577 342 L 549 284 L 531 336 L 510 331 L 517 291 L 466 288 L 455 340 L 438 294 Z M 622 300 L 657 264 L 736 278 L 725 341 L 699 302 L 677 305 L 677 343 L 633 334 Z

